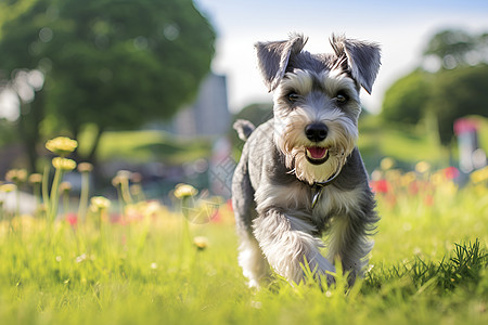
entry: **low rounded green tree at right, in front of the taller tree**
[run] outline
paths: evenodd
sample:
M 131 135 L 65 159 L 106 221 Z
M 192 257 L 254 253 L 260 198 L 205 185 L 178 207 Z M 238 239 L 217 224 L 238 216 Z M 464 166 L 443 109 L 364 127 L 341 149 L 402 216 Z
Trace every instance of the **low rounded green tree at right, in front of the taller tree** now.
M 387 121 L 419 123 L 432 114 L 439 138 L 449 144 L 455 119 L 467 115 L 487 117 L 488 65 L 458 67 L 428 74 L 422 70 L 399 79 L 385 93 L 381 116 Z

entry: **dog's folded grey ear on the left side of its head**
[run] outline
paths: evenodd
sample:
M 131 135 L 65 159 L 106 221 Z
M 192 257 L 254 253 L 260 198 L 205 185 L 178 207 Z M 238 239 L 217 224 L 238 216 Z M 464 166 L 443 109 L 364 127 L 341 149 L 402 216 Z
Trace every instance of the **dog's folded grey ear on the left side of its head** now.
M 307 38 L 303 35 L 292 35 L 287 41 L 258 42 L 258 66 L 269 91 L 273 91 L 283 78 L 290 57 L 298 54 L 305 47 Z

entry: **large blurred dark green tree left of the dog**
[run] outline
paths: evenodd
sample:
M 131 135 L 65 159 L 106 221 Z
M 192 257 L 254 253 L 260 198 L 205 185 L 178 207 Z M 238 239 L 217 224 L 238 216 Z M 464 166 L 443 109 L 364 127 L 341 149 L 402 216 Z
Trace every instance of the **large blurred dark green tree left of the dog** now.
M 103 131 L 169 118 L 191 101 L 214 55 L 215 32 L 191 0 L 9 0 L 0 13 L 3 76 L 44 76 L 36 96 L 20 94 L 30 152 L 40 126 L 77 138 L 91 123 L 84 158 L 93 160 Z

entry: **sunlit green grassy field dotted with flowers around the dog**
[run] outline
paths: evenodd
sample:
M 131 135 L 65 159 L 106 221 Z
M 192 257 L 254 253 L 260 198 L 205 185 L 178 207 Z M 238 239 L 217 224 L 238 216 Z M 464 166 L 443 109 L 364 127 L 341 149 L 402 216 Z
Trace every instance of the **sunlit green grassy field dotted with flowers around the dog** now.
M 445 171 L 385 171 L 352 288 L 247 288 L 228 205 L 202 224 L 146 202 L 112 222 L 2 213 L 0 324 L 487 324 L 487 173 L 459 190 Z

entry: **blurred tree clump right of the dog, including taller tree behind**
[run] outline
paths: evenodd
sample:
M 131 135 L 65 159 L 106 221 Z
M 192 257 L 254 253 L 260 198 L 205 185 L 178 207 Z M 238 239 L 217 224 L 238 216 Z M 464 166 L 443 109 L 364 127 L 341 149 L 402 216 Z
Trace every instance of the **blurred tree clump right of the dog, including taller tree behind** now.
M 438 64 L 426 64 L 432 57 Z M 423 68 L 400 78 L 386 91 L 381 115 L 387 121 L 412 125 L 434 117 L 440 142 L 448 145 L 457 118 L 488 115 L 488 35 L 440 31 L 428 41 L 423 61 Z

